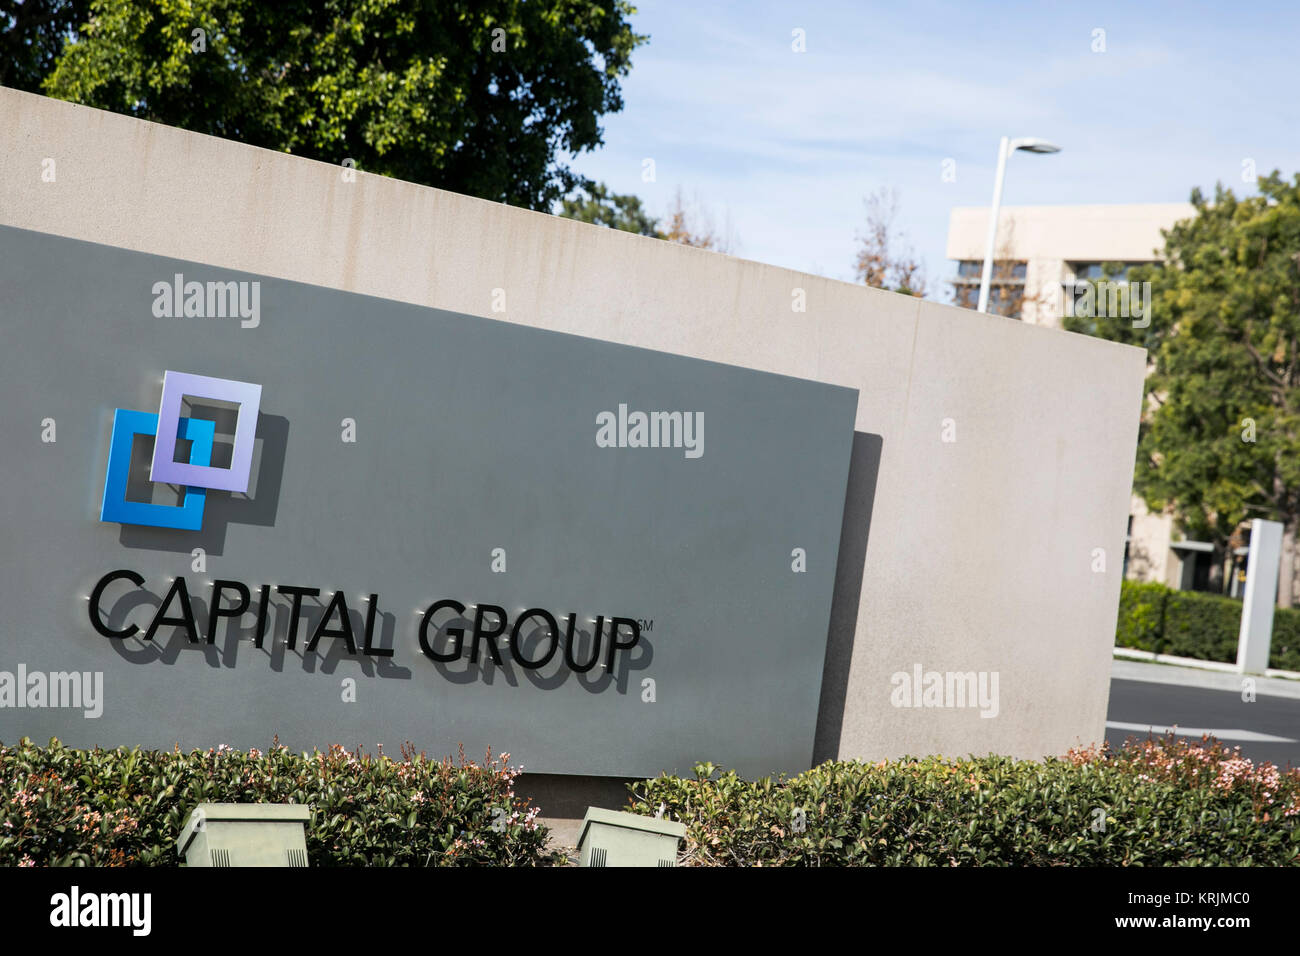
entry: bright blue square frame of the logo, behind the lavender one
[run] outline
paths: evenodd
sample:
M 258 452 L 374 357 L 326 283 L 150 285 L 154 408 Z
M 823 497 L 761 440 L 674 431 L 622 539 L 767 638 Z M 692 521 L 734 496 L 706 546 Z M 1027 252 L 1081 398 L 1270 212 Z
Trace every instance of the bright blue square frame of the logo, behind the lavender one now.
M 205 419 L 181 419 L 178 434 L 190 444 L 190 464 L 212 462 L 216 423 Z M 147 411 L 117 408 L 113 412 L 113 438 L 108 449 L 108 473 L 104 476 L 104 501 L 99 520 L 120 524 L 146 524 L 153 528 L 199 531 L 203 527 L 202 488 L 186 486 L 185 501 L 178 506 L 152 505 L 126 499 L 126 483 L 131 471 L 131 445 L 136 434 L 157 436 L 159 416 Z

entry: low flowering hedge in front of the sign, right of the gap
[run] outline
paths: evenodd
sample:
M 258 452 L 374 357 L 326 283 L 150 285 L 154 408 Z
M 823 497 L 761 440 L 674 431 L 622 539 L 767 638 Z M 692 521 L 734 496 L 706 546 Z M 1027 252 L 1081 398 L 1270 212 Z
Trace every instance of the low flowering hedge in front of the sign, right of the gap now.
M 1130 743 L 1008 757 L 823 763 L 744 780 L 630 784 L 634 813 L 686 825 L 696 866 L 1300 864 L 1300 771 L 1221 744 Z

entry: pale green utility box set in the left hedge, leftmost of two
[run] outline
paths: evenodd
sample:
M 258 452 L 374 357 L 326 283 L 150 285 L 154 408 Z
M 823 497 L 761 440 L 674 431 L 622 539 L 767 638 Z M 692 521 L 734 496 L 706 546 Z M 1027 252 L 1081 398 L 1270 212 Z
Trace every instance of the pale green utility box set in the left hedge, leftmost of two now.
M 176 842 L 186 866 L 306 866 L 303 804 L 199 804 Z

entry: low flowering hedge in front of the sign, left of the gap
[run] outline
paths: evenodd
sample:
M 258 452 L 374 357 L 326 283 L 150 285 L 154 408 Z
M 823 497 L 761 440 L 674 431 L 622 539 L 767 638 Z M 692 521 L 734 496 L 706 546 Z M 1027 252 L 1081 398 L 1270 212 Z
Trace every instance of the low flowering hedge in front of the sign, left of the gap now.
M 306 804 L 313 866 L 555 862 L 507 754 L 482 765 L 350 753 L 0 745 L 0 866 L 174 866 L 200 803 Z

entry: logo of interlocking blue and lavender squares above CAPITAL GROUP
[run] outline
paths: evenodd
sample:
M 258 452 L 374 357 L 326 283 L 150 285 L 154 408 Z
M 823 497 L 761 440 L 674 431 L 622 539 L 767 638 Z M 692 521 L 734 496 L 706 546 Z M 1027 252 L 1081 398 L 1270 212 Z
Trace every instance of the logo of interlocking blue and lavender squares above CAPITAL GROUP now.
M 212 464 L 214 423 L 181 416 L 181 405 L 186 395 L 238 406 L 229 468 Z M 261 385 L 186 372 L 166 372 L 162 376 L 162 401 L 157 415 L 130 408 L 117 408 L 113 412 L 113 438 L 109 442 L 108 472 L 104 477 L 104 499 L 99 520 L 199 531 L 203 527 L 207 492 L 248 490 L 260 406 Z M 136 434 L 155 436 L 150 481 L 182 485 L 183 499 L 178 506 L 127 501 L 131 449 Z M 177 441 L 181 440 L 190 442 L 187 462 L 176 460 Z

